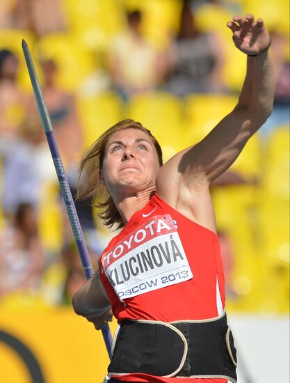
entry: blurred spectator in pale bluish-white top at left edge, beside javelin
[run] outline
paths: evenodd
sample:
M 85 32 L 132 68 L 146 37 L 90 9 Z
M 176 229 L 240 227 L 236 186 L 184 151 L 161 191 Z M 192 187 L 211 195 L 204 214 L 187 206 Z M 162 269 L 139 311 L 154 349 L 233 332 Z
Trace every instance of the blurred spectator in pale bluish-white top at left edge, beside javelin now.
M 42 127 L 36 118 L 25 120 L 17 139 L 3 137 L 0 140 L 0 157 L 3 159 L 1 202 L 6 217 L 15 214 L 19 203 L 38 207 L 43 180 L 39 146 L 43 140 Z

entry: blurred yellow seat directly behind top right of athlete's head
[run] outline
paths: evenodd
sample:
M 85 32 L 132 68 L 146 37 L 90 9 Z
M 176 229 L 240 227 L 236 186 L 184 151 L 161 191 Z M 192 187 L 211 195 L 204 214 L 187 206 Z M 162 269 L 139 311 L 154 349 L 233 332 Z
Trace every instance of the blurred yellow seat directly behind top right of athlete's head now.
M 165 160 L 188 146 L 182 125 L 182 102 L 174 95 L 152 92 L 132 97 L 127 115 L 152 131 Z

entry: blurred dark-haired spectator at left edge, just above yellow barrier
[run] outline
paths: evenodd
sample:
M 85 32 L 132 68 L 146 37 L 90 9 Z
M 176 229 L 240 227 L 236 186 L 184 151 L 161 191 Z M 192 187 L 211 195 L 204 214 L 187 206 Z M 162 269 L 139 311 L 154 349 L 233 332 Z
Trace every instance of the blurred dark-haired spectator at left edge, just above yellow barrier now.
M 0 233 L 0 298 L 22 288 L 38 289 L 44 265 L 35 208 L 23 203 Z

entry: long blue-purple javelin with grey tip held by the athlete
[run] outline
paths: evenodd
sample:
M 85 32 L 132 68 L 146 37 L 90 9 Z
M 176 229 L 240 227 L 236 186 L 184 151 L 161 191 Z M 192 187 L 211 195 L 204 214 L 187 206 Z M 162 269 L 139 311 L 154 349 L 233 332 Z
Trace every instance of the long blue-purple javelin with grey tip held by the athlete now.
M 72 192 L 70 191 L 70 186 L 67 182 L 67 176 L 65 175 L 65 169 L 63 167 L 61 155 L 59 153 L 56 138 L 54 136 L 54 130 L 51 125 L 49 112 L 47 111 L 47 106 L 45 104 L 45 99 L 40 88 L 38 76 L 35 72 L 33 60 L 29 52 L 29 46 L 27 45 L 27 42 L 25 40 L 22 40 L 22 49 L 24 52 L 27 69 L 29 70 L 31 85 L 33 88 L 36 104 L 38 105 L 40 119 L 42 122 L 42 126 L 45 129 L 45 134 L 47 136 L 47 142 L 49 144 L 51 157 L 54 161 L 54 167 L 58 176 L 58 182 L 61 187 L 61 194 L 63 195 L 63 200 L 65 201 L 65 208 L 67 209 L 67 215 L 70 219 L 70 225 L 72 226 L 72 233 L 74 233 L 74 240 L 76 241 L 76 246 L 79 251 L 79 257 L 81 258 L 81 265 L 83 266 L 83 272 L 86 276 L 86 280 L 88 281 L 88 279 L 90 279 L 94 274 L 94 269 L 92 268 L 92 263 L 90 262 L 90 256 L 88 255 L 86 242 L 83 238 L 83 231 L 81 230 L 79 217 L 76 213 L 74 200 L 72 199 Z M 108 356 L 111 359 L 112 335 L 110 327 L 108 327 L 108 323 L 106 323 L 106 325 L 104 325 L 104 327 L 102 328 L 102 334 L 104 337 L 104 342 L 106 343 L 106 350 L 108 352 Z

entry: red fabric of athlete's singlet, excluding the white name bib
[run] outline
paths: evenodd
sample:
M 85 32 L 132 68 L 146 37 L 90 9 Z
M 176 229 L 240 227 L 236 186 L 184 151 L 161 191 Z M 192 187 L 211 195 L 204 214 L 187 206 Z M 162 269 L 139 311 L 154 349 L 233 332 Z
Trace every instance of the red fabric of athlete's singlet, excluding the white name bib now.
M 152 212 L 150 214 L 150 212 Z M 143 217 L 147 214 L 147 217 Z M 204 228 L 184 217 L 165 203 L 155 194 L 141 210 L 138 210 L 122 231 L 108 244 L 104 253 L 113 251 L 130 233 L 136 231 L 154 216 L 170 214 L 176 222 L 177 233 L 184 247 L 193 278 L 172 286 L 160 288 L 124 299 L 121 302 L 104 272 L 100 277 L 108 298 L 111 301 L 113 313 L 118 322 L 124 319 L 161 320 L 172 322 L 176 320 L 202 320 L 218 316 L 216 302 L 216 281 L 220 290 L 221 302 L 225 307 L 225 288 L 223 265 L 220 258 L 220 248 L 216 233 Z M 104 256 L 104 253 L 102 257 Z M 102 260 L 101 257 L 101 260 Z M 102 265 L 99 268 L 102 270 Z M 120 381 L 128 382 L 173 382 L 176 378 L 151 377 L 145 374 L 129 374 L 112 376 Z M 186 383 L 226 383 L 225 379 L 182 378 Z

